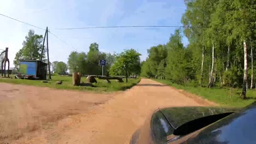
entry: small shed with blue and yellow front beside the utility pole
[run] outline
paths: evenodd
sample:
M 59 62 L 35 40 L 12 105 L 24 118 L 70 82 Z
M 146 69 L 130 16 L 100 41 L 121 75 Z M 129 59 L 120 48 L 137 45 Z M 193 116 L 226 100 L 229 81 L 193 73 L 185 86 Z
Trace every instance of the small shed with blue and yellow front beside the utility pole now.
M 46 80 L 47 75 L 47 63 L 37 60 L 19 60 L 20 62 L 20 74 L 33 75 L 40 80 Z

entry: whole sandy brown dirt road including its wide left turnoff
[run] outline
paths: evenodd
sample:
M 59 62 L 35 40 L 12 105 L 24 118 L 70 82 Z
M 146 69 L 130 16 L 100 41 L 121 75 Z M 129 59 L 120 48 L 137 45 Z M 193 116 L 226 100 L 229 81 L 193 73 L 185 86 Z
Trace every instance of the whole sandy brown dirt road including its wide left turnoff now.
M 114 94 L 5 83 L 0 91 L 0 140 L 9 143 L 129 143 L 158 107 L 214 105 L 149 79 Z

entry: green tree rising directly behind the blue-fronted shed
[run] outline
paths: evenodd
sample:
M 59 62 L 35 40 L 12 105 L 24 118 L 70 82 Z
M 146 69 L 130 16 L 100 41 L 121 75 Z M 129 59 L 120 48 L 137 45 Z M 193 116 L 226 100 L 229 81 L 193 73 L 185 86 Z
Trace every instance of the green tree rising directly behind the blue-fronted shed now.
M 22 48 L 16 53 L 14 58 L 15 68 L 19 67 L 19 59 L 39 60 L 43 45 L 43 35 L 34 34 L 33 30 L 28 32 Z M 43 51 L 43 59 L 45 58 L 45 50 Z

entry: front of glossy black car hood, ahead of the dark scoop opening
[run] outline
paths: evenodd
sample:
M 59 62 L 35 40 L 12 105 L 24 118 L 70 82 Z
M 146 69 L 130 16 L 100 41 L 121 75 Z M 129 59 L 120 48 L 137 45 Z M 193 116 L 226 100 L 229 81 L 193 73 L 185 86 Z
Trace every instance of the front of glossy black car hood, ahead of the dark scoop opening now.
M 201 117 L 237 110 L 226 107 L 169 107 L 161 109 L 161 111 L 157 110 L 132 135 L 130 143 L 165 143 L 177 137 L 177 135 L 173 135 L 173 132 L 184 123 Z

